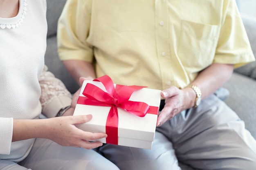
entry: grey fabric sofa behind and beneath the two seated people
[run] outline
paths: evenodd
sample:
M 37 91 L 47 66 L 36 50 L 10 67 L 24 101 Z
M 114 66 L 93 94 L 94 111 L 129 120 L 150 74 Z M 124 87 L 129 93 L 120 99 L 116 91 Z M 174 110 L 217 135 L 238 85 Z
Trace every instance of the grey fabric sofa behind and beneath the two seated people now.
M 79 86 L 67 73 L 61 61 L 58 59 L 56 46 L 56 28 L 58 17 L 66 0 L 47 1 L 47 51 L 45 54 L 45 64 L 49 71 L 61 79 L 67 89 L 74 93 Z M 256 19 L 242 15 L 243 22 L 249 40 L 251 42 L 254 55 L 256 56 Z M 225 102 L 245 121 L 246 128 L 256 138 L 256 62 L 247 64 L 234 71 L 231 79 L 225 84 L 229 91 L 229 97 Z M 227 92 L 227 91 L 223 91 Z M 180 163 L 182 170 L 192 170 L 189 166 Z

